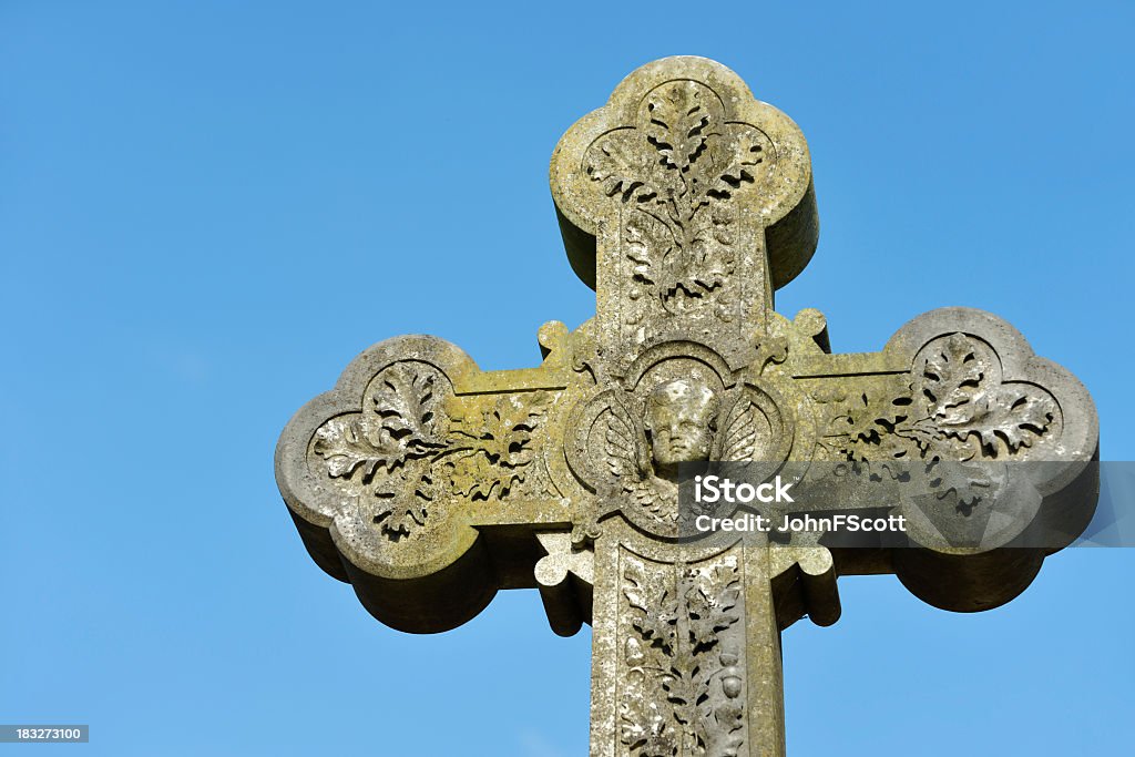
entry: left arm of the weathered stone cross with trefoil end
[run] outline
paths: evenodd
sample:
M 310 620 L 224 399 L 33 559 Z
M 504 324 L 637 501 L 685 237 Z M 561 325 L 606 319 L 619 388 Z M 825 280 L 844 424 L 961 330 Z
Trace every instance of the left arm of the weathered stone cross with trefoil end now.
M 586 340 L 552 322 L 540 342 L 539 368 L 485 373 L 442 339 L 389 339 L 287 424 L 276 476 L 303 542 L 384 623 L 468 621 L 497 589 L 536 586 L 538 531 L 571 528 L 549 439 L 590 381 L 571 359 Z

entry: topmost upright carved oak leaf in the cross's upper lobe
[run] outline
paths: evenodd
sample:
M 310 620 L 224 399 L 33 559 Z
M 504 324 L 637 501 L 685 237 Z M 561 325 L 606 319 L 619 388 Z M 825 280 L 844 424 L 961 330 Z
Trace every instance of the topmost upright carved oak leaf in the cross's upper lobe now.
M 655 92 L 647 103 L 650 123 L 647 141 L 662 154 L 663 163 L 686 170 L 706 146 L 712 116 L 693 82 L 675 82 Z

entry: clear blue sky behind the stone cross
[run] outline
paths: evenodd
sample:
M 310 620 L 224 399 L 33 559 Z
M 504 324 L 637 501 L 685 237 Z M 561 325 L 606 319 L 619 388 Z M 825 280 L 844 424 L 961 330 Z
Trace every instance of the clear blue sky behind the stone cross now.
M 666 54 L 809 140 L 823 230 L 782 312 L 857 352 L 991 310 L 1135 459 L 1135 6 L 545 5 L 0 6 L 0 723 L 93 734 L 0 755 L 586 754 L 586 631 L 535 592 L 381 626 L 272 448 L 373 342 L 519 368 L 588 318 L 548 157 Z M 1067 550 L 978 615 L 843 580 L 839 624 L 784 634 L 789 754 L 1130 754 L 1133 578 Z

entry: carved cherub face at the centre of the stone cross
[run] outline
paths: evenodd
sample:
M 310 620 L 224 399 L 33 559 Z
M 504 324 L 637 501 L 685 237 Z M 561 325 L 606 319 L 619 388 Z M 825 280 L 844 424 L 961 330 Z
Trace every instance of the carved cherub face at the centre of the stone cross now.
M 675 379 L 655 388 L 646 401 L 655 464 L 670 469 L 709 460 L 720 404 L 713 390 L 696 379 Z

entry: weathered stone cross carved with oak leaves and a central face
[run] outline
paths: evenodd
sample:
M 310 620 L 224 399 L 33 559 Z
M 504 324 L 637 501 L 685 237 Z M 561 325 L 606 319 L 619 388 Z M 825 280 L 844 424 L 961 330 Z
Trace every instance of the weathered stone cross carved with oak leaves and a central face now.
M 818 311 L 773 310 L 816 247 L 812 168 L 729 69 L 633 72 L 562 137 L 550 180 L 595 318 L 546 323 L 520 370 L 381 342 L 287 424 L 276 476 L 311 557 L 393 628 L 445 631 L 514 588 L 539 589 L 557 633 L 590 623 L 592 755 L 782 755 L 780 633 L 835 622 L 838 575 L 975 611 L 1062 546 L 957 497 L 874 503 L 910 518 L 903 547 L 678 540 L 682 463 L 1043 461 L 1029 514 L 1069 539 L 1091 515 L 1092 401 L 1008 323 L 938 310 L 881 352 L 831 354 Z

